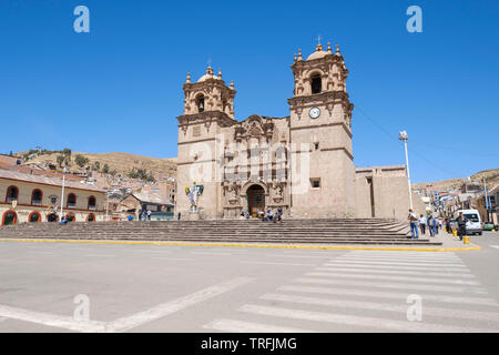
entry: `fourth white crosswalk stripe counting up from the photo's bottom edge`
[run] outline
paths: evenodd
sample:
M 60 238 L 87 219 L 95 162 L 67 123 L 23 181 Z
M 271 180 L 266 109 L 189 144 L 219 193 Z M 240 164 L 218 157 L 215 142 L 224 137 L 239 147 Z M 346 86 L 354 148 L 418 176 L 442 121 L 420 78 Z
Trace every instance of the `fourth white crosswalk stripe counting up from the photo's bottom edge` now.
M 389 300 L 407 300 L 408 293 L 404 292 L 383 292 L 373 290 L 357 290 L 352 287 L 323 287 L 323 286 L 304 286 L 304 285 L 285 285 L 277 288 L 278 291 L 286 292 L 303 292 L 303 293 L 316 293 L 327 294 L 336 296 L 357 296 L 357 297 L 378 297 Z M 456 304 L 469 304 L 469 305 L 483 305 L 499 307 L 499 304 L 493 298 L 487 297 L 460 297 L 448 296 L 439 294 L 419 293 L 425 301 L 435 301 L 441 303 L 456 303 Z

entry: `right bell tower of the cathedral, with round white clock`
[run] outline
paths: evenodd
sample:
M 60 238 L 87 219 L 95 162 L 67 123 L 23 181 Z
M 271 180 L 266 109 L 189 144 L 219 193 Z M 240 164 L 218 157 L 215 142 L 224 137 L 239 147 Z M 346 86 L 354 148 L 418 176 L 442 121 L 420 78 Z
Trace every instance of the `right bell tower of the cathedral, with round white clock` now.
M 352 110 L 344 58 L 318 43 L 306 60 L 291 67 L 295 78 L 289 103 L 292 213 L 307 217 L 355 215 Z M 312 164 L 312 162 L 314 162 Z

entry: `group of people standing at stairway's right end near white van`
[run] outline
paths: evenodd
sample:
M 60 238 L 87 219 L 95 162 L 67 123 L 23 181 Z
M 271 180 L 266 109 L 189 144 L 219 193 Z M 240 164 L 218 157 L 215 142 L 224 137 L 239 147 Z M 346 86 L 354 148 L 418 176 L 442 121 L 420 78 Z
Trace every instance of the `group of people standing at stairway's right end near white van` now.
M 410 223 L 411 239 L 419 237 L 419 230 L 421 231 L 421 235 L 426 234 L 427 227 L 430 236 L 435 236 L 438 234 L 438 230 L 442 229 L 442 224 L 445 224 L 447 233 L 452 233 L 452 227 L 450 225 L 450 217 L 446 217 L 444 220 L 444 223 L 442 221 L 435 219 L 432 215 L 429 215 L 427 219 L 421 214 L 419 215 L 418 219 L 417 215 L 414 213 L 414 211 L 409 210 L 409 216 L 407 219 L 409 220 Z M 459 240 L 461 241 L 462 237 L 466 235 L 466 222 L 468 222 L 468 220 L 466 219 L 466 216 L 462 215 L 461 212 L 459 212 L 459 216 L 456 219 L 456 223 L 458 225 L 458 236 Z

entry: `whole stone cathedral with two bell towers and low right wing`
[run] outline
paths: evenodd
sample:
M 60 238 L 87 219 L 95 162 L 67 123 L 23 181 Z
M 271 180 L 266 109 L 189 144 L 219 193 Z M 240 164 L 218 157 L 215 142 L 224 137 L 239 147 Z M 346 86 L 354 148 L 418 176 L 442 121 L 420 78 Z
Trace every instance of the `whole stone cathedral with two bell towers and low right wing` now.
M 184 112 L 176 118 L 176 212 L 186 219 L 235 219 L 281 209 L 285 217 L 405 220 L 405 165 L 354 164 L 354 104 L 339 47 L 318 44 L 307 58 L 299 50 L 291 69 L 289 115 L 252 114 L 243 121 L 234 112 L 233 81 L 226 85 L 210 65 L 195 82 L 187 74 Z

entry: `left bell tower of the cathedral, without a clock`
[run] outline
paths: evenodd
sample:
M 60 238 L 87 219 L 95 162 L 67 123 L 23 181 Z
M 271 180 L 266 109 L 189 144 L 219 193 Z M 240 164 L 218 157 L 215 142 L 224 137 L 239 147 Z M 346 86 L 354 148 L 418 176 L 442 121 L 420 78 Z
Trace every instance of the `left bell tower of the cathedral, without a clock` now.
M 189 199 L 181 195 L 176 201 L 176 213 L 185 217 L 203 216 L 216 219 L 223 215 L 222 187 L 220 184 L 220 135 L 223 129 L 231 128 L 237 121 L 234 118 L 234 83 L 227 87 L 222 80 L 222 71 L 206 73 L 196 82 L 191 74 L 183 85 L 184 113 L 179 120 L 177 143 L 177 191 L 184 191 L 193 182 L 203 184 L 203 195 L 197 205 L 198 214 L 190 213 Z M 223 142 L 222 142 L 223 143 Z M 192 212 L 192 211 L 191 211 Z

